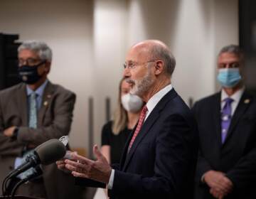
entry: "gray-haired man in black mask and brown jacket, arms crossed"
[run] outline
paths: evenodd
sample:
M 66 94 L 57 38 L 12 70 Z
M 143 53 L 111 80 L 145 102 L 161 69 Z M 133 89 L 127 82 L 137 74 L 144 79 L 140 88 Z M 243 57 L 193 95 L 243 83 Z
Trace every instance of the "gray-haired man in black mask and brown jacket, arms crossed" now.
M 1 183 L 36 146 L 70 132 L 75 94 L 48 80 L 51 58 L 46 43 L 24 42 L 18 48 L 18 75 L 23 82 L 0 92 Z M 9 188 L 24 177 L 11 181 Z M 53 163 L 43 168 L 43 178 L 21 185 L 17 193 L 69 198 L 67 193 L 73 194 L 75 190 L 70 190 L 73 187 L 68 182 L 72 183 L 72 178 Z

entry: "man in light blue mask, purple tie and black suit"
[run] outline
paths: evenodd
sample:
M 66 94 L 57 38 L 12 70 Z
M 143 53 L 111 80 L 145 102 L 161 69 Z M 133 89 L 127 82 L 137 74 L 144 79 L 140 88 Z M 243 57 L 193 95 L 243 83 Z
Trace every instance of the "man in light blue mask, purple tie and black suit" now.
M 238 45 L 218 55 L 220 92 L 196 102 L 199 157 L 195 198 L 256 198 L 256 98 L 242 83 Z

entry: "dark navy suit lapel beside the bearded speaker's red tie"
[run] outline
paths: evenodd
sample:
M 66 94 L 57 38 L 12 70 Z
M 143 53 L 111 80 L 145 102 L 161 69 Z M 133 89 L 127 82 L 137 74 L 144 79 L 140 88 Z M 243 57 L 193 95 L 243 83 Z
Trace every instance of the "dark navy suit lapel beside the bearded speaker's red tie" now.
M 146 119 L 144 124 L 142 125 L 142 129 L 140 129 L 139 134 L 137 135 L 136 139 L 134 140 L 134 143 L 132 144 L 132 148 L 129 151 L 129 154 L 126 154 L 124 167 L 122 168 L 122 171 L 125 171 L 129 161 L 131 161 L 132 156 L 136 152 L 137 146 L 139 146 L 139 143 L 144 139 L 148 131 L 151 129 L 153 124 L 156 122 L 156 120 L 159 118 L 159 114 L 161 113 L 162 109 L 166 106 L 166 103 L 169 102 L 171 99 L 177 96 L 177 93 L 174 89 L 169 91 L 160 101 L 158 104 L 156 104 L 156 107 L 152 110 L 152 112 L 149 114 L 149 117 Z M 136 128 L 134 128 L 136 129 Z M 134 131 L 133 131 L 134 133 Z M 133 135 L 133 134 L 132 134 Z M 129 140 L 132 139 L 132 136 L 130 136 Z M 129 142 L 127 142 L 125 146 L 124 153 L 127 153 L 127 149 L 129 146 Z M 124 154 L 123 154 L 124 155 Z

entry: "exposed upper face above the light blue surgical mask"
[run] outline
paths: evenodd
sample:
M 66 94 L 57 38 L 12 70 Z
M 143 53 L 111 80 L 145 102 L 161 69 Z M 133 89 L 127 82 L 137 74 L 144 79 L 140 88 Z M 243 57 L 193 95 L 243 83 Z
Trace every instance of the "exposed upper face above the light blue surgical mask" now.
M 234 53 L 221 53 L 218 57 L 218 69 L 221 68 L 239 68 L 241 72 L 241 60 Z

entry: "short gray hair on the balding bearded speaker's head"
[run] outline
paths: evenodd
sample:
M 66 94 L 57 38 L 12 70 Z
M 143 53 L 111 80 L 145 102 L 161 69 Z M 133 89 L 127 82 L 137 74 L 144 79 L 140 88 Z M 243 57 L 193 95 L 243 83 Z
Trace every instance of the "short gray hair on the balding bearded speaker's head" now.
M 153 45 L 151 47 L 151 56 L 154 60 L 163 60 L 165 67 L 165 72 L 172 75 L 176 65 L 176 60 L 171 51 L 167 46 L 160 44 Z

